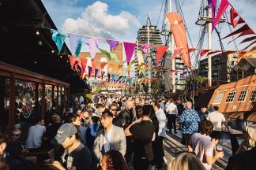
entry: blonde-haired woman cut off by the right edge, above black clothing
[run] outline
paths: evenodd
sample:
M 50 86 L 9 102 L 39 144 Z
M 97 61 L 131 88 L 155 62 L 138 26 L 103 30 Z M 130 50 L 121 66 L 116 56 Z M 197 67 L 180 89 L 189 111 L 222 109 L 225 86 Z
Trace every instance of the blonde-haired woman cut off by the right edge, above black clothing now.
M 245 139 L 241 142 L 235 154 L 250 150 L 256 146 L 256 124 L 248 124 L 246 127 Z

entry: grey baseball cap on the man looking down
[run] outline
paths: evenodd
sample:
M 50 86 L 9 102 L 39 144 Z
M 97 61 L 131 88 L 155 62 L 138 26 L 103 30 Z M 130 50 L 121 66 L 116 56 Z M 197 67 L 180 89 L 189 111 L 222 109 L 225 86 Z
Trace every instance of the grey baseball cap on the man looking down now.
M 76 133 L 77 127 L 73 124 L 62 124 L 62 126 L 58 128 L 55 140 L 58 144 L 61 144 L 66 138 L 70 138 L 70 136 L 75 135 Z

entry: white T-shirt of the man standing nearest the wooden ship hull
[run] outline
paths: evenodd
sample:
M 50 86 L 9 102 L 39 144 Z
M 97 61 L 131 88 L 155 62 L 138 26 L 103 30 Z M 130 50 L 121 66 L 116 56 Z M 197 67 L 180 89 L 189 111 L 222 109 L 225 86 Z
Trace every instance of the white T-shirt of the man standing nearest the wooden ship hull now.
M 224 115 L 218 111 L 208 113 L 206 119 L 213 123 L 213 131 L 221 131 L 222 122 L 226 121 Z

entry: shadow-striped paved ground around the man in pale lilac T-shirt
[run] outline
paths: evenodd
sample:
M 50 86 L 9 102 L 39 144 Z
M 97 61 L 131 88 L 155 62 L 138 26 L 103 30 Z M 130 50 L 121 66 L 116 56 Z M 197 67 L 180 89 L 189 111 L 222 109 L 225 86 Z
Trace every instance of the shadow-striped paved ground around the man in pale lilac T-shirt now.
M 176 153 L 186 150 L 186 146 L 183 146 L 183 144 L 180 143 L 180 139 L 182 136 L 181 132 L 177 132 L 177 134 L 168 134 L 167 137 L 164 139 L 165 157 L 168 163 L 171 161 L 172 157 L 175 157 Z M 224 147 L 223 150 L 225 154 L 224 159 L 221 159 L 217 161 L 216 164 L 213 164 L 213 170 L 225 169 L 225 167 L 227 166 L 228 157 L 232 155 L 232 151 L 228 147 Z M 163 170 L 164 169 L 166 169 L 166 166 L 163 168 Z

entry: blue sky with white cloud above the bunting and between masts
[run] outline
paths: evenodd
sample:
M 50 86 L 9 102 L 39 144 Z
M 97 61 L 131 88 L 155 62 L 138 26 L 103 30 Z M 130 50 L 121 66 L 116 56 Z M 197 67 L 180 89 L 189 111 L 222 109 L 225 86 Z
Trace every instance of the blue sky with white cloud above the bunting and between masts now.
M 42 0 L 57 28 L 62 31 L 103 38 L 135 42 L 137 31 L 146 24 L 146 15 L 150 14 L 152 24 L 160 14 L 162 0 Z M 164 0 L 165 1 L 165 0 Z M 232 6 L 246 20 L 250 28 L 256 30 L 254 9 L 255 0 L 229 0 Z M 172 1 L 174 3 L 174 1 Z M 194 46 L 198 43 L 199 26 L 194 22 L 198 18 L 201 0 L 180 0 L 183 13 Z M 175 9 L 175 5 L 173 5 Z M 229 12 L 228 12 L 229 13 Z M 228 14 L 229 15 L 229 14 Z M 159 27 L 163 15 L 160 17 Z M 239 27 L 238 27 L 239 28 Z M 233 30 L 234 31 L 234 30 Z M 224 37 L 230 33 L 225 24 L 221 30 Z M 205 39 L 207 39 L 205 37 Z M 224 40 L 225 50 L 234 50 L 234 45 L 227 45 L 231 39 Z M 242 41 L 242 39 L 240 40 Z M 239 41 L 238 41 L 239 43 Z M 205 42 L 205 48 L 207 43 Z M 191 46 L 191 45 L 190 45 Z M 243 46 L 239 46 L 241 50 Z M 216 34 L 213 33 L 213 49 L 220 49 Z

